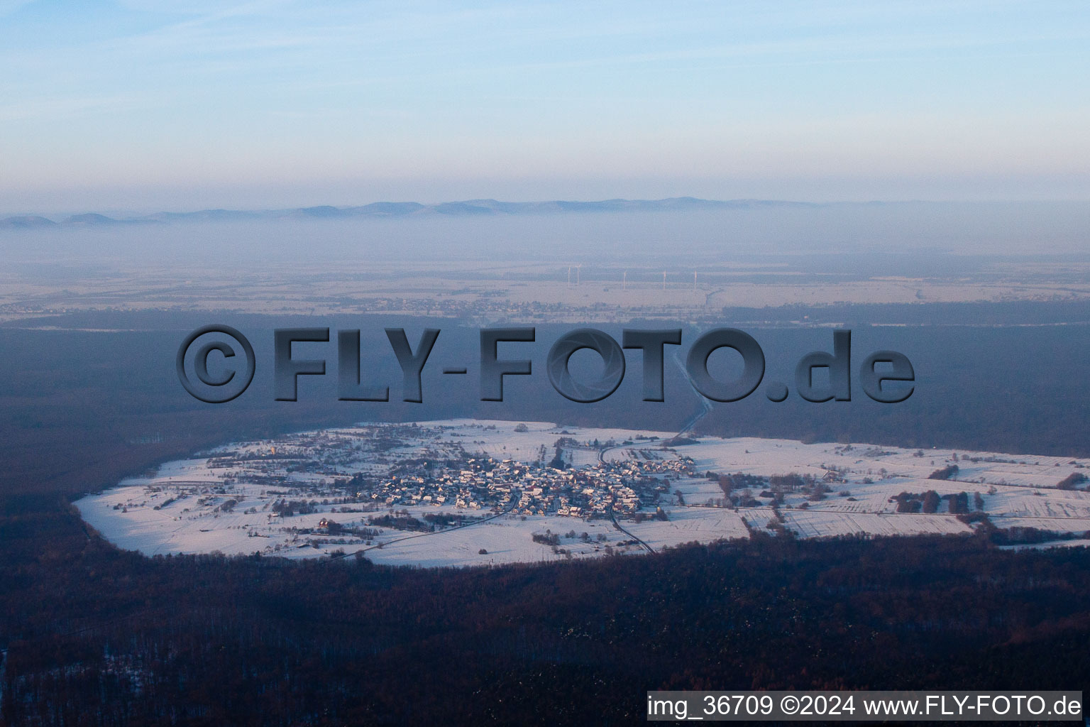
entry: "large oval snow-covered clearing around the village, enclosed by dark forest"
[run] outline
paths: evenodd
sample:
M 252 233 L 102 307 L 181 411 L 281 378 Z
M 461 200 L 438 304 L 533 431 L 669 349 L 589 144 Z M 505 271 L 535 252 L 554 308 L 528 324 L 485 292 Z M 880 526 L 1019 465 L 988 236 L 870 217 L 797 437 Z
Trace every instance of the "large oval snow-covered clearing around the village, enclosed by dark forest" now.
M 950 512 L 958 497 L 968 502 L 968 511 L 986 516 L 996 528 L 1077 535 L 1090 531 L 1090 493 L 1082 492 L 1087 484 L 1056 488 L 1068 475 L 1090 471 L 1088 460 L 758 438 L 671 444 L 671 436 L 474 420 L 413 428 L 361 424 L 227 445 L 88 495 L 76 507 L 110 542 L 147 555 L 306 558 L 361 553 L 375 562 L 423 567 L 642 553 L 744 538 L 752 531 L 799 537 L 968 533 L 978 525 Z M 558 446 L 561 438 L 565 444 Z M 568 470 L 549 468 L 555 455 Z M 414 478 L 424 471 L 420 468 L 434 462 L 463 462 L 444 471 L 457 474 L 458 467 L 469 467 L 464 462 L 485 458 L 502 468 L 526 463 L 533 476 L 568 477 L 571 482 L 561 483 L 568 497 L 584 492 L 590 504 L 603 501 L 602 495 L 618 499 L 593 512 L 586 505 L 573 517 L 558 507 L 566 499 L 548 498 L 547 483 L 546 494 L 536 494 L 537 487 L 531 501 L 528 493 L 543 481 L 505 486 L 502 469 L 477 473 L 488 477 L 487 494 L 483 487 L 456 493 L 459 482 L 449 482 L 451 477 L 439 483 L 446 488 L 437 489 L 429 489 L 434 483 L 424 477 Z M 410 464 L 416 470 L 407 470 Z M 929 478 L 949 465 L 958 468 L 954 478 Z M 401 480 L 393 477 L 379 490 L 375 483 L 391 472 Z M 495 473 L 501 476 L 493 477 Z M 738 473 L 760 477 L 762 484 L 736 486 L 728 496 L 715 475 Z M 774 499 L 768 477 L 789 473 L 807 477 L 808 489 L 779 492 Z M 592 495 L 585 477 L 594 476 L 614 476 L 609 482 L 626 477 L 625 487 L 643 487 L 637 509 L 618 509 L 623 497 L 631 497 L 630 489 L 625 495 L 610 489 L 614 485 L 596 484 L 600 489 Z M 813 496 L 820 485 L 822 494 Z M 928 490 L 940 498 L 933 512 L 898 511 L 898 495 L 922 497 Z M 556 483 L 554 492 L 560 492 Z M 286 510 L 293 502 L 304 507 Z M 610 512 L 618 513 L 616 523 Z M 422 532 L 391 521 L 395 517 L 422 526 L 437 524 L 435 532 Z

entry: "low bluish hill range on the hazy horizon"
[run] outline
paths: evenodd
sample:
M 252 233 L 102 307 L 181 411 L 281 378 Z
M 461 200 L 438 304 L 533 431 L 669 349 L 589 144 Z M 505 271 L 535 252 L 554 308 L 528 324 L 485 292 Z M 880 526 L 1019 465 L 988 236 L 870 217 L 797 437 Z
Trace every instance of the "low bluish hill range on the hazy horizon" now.
M 444 215 L 450 217 L 504 216 L 504 215 L 559 215 L 570 213 L 623 213 L 663 210 L 755 209 L 767 207 L 814 207 L 803 202 L 770 199 L 698 199 L 671 197 L 669 199 L 605 199 L 602 202 L 497 202 L 496 199 L 469 199 L 423 205 L 419 202 L 375 202 L 359 207 L 298 207 L 294 209 L 202 209 L 194 213 L 156 213 L 140 217 L 114 218 L 95 213 L 73 215 L 64 219 L 49 219 L 37 215 L 22 215 L 0 219 L 4 229 L 43 229 L 56 227 L 107 227 L 114 225 L 156 225 L 167 222 L 214 222 L 262 219 L 344 219 L 352 217 L 421 217 Z

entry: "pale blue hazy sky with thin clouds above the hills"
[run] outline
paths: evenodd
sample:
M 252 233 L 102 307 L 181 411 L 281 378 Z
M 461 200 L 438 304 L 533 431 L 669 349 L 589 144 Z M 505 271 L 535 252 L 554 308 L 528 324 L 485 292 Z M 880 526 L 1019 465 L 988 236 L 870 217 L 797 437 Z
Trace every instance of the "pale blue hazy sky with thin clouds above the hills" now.
M 1088 78 L 1086 0 L 0 0 L 0 214 L 1086 199 Z

